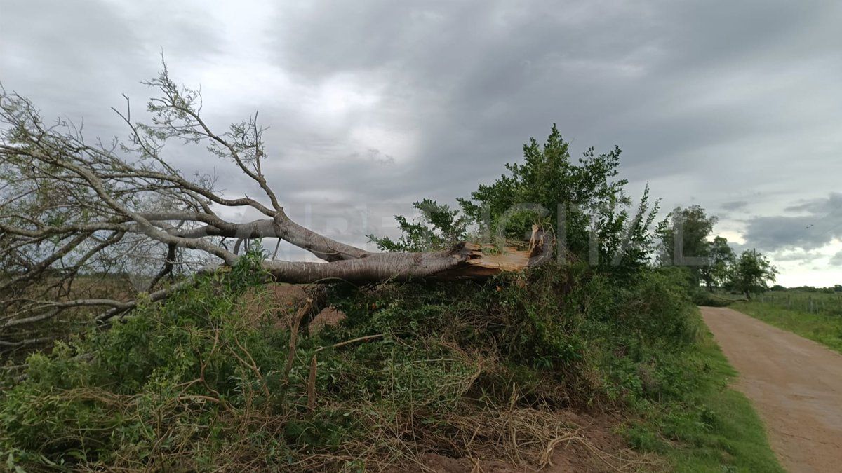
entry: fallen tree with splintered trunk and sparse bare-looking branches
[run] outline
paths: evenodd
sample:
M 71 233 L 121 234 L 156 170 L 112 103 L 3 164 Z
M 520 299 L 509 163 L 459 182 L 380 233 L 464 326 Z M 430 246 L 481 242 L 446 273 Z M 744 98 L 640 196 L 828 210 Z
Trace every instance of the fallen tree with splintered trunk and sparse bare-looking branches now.
M 125 142 L 88 142 L 70 122 L 45 124 L 27 98 L 0 95 L 0 327 L 5 335 L 80 307 L 101 309 L 99 320 L 106 320 L 136 306 L 131 297 L 80 297 L 97 292 L 74 288 L 80 275 L 154 268 L 145 287 L 135 289 L 147 294 L 145 300 L 161 300 L 189 284 L 189 274 L 201 268 L 233 266 L 249 242 L 261 238 L 278 238 L 279 244 L 289 242 L 322 260 L 264 258 L 261 266 L 271 279 L 288 283 L 484 278 L 552 257 L 552 239 L 541 234 L 533 235 L 526 249 L 502 252 L 466 242 L 431 252 L 369 252 L 320 235 L 290 220 L 269 186 L 261 167 L 266 154 L 257 114 L 217 132 L 200 115 L 200 93 L 173 82 L 166 66 L 147 85 L 158 93 L 147 106 L 149 123 L 132 119 L 128 98 L 125 110 L 115 109 L 130 131 Z M 163 152 L 173 139 L 207 145 L 262 197 L 226 197 L 215 178 L 185 177 Z M 250 208 L 264 218 L 228 221 L 220 216 L 225 208 Z M 176 274 L 183 282 L 163 287 L 163 280 Z M 4 336 L 0 344 L 40 341 Z

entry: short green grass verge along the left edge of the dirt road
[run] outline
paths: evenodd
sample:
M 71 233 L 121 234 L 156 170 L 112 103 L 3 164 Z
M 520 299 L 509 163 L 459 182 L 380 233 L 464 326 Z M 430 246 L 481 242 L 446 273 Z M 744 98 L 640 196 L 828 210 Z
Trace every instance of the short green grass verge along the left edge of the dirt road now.
M 673 471 L 784 471 L 751 402 L 728 387 L 736 372 L 706 327 L 682 355 L 675 369 L 685 369 L 685 390 L 638 406 L 642 420 L 625 432 L 630 443 L 662 455 Z

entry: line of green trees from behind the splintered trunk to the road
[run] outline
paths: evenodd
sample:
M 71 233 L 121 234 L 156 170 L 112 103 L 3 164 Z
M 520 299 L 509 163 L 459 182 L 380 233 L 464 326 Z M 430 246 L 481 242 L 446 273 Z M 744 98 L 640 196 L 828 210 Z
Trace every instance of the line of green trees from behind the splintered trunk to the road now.
M 546 143 L 531 139 L 522 162 L 507 164 L 509 173 L 470 198 L 456 199 L 457 208 L 423 199 L 414 204 L 416 218 L 395 216 L 400 237 L 369 240 L 386 252 L 425 252 L 460 241 L 529 239 L 541 228 L 557 238 L 560 262 L 586 263 L 620 279 L 654 263 L 685 268 L 693 288 L 748 298 L 775 282 L 777 270 L 763 254 L 736 254 L 726 237 L 713 236 L 717 217 L 701 206 L 676 207 L 656 222 L 660 199 L 647 188 L 635 203 L 626 179 L 617 178 L 620 148 L 599 155 L 589 149 L 574 160 L 568 146 L 553 125 Z

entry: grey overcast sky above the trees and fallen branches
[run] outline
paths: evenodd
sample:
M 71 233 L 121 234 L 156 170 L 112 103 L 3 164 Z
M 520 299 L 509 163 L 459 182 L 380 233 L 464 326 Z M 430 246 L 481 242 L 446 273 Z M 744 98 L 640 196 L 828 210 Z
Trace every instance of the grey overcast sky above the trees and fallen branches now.
M 125 136 L 109 107 L 120 93 L 140 107 L 163 49 L 211 123 L 260 111 L 290 213 L 352 243 L 413 200 L 492 181 L 555 122 L 576 153 L 621 146 L 633 193 L 648 182 L 666 208 L 719 215 L 781 284 L 832 285 L 840 24 L 831 0 L 0 0 L 0 82 L 88 135 Z M 248 190 L 200 149 L 169 152 Z

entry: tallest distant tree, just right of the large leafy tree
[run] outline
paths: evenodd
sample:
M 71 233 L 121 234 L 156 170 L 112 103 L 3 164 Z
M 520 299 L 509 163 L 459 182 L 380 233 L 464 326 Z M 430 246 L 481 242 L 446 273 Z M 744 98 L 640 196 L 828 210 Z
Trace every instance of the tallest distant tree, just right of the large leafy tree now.
M 705 267 L 710 257 L 711 235 L 717 223 L 715 215 L 707 215 L 700 205 L 690 205 L 686 209 L 675 207 L 667 216 L 668 225 L 660 231 L 661 244 L 658 262 L 663 266 L 686 266 L 690 272 L 690 281 L 694 286 L 701 280 L 701 268 Z M 701 262 L 690 258 L 702 258 Z

